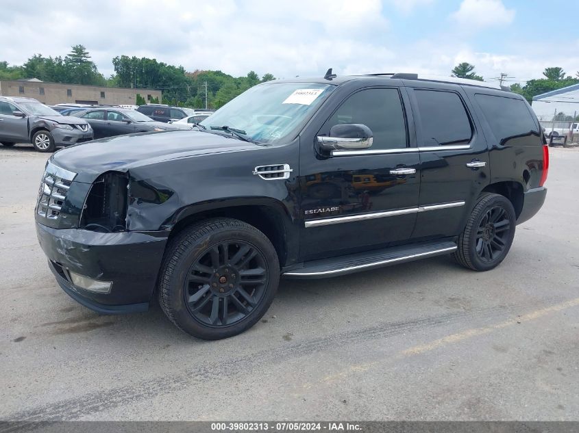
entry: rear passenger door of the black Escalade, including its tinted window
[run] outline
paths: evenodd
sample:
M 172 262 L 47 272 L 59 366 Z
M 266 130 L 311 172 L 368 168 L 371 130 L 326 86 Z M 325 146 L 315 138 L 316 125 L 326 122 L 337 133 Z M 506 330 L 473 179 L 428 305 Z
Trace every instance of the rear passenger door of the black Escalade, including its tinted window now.
M 491 179 L 489 149 L 460 86 L 407 86 L 417 125 L 423 210 L 412 237 L 455 236 Z

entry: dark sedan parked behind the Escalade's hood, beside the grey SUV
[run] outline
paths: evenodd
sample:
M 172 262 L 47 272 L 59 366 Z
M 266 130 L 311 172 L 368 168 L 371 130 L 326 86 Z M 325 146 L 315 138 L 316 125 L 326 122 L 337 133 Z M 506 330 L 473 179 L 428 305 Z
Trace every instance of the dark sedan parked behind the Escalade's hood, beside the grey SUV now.
M 156 122 L 134 109 L 99 107 L 77 111 L 73 116 L 86 120 L 93 127 L 95 138 L 179 129 L 167 123 Z

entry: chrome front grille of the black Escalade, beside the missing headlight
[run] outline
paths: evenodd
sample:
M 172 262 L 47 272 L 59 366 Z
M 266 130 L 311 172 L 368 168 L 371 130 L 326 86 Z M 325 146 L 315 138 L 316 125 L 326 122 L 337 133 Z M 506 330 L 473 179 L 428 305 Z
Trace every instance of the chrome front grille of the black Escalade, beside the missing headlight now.
M 76 173 L 64 170 L 48 161 L 45 173 L 42 175 L 40 189 L 38 189 L 36 213 L 49 220 L 58 219 L 66 193 L 75 176 Z

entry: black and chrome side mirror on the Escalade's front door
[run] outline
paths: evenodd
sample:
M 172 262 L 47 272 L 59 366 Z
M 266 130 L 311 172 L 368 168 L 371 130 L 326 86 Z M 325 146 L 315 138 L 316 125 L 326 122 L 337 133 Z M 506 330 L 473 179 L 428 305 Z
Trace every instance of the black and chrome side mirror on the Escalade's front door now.
M 372 146 L 372 131 L 365 124 L 335 124 L 330 129 L 330 137 L 318 136 L 321 153 L 334 155 L 334 150 L 360 150 Z

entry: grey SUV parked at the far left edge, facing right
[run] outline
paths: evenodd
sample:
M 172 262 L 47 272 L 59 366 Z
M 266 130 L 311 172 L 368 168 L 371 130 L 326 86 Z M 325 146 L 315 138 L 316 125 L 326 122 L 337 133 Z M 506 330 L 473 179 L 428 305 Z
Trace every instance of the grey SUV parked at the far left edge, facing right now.
M 53 152 L 93 140 L 93 129 L 86 120 L 62 116 L 32 98 L 0 96 L 0 142 L 4 146 L 32 143 L 38 152 Z

